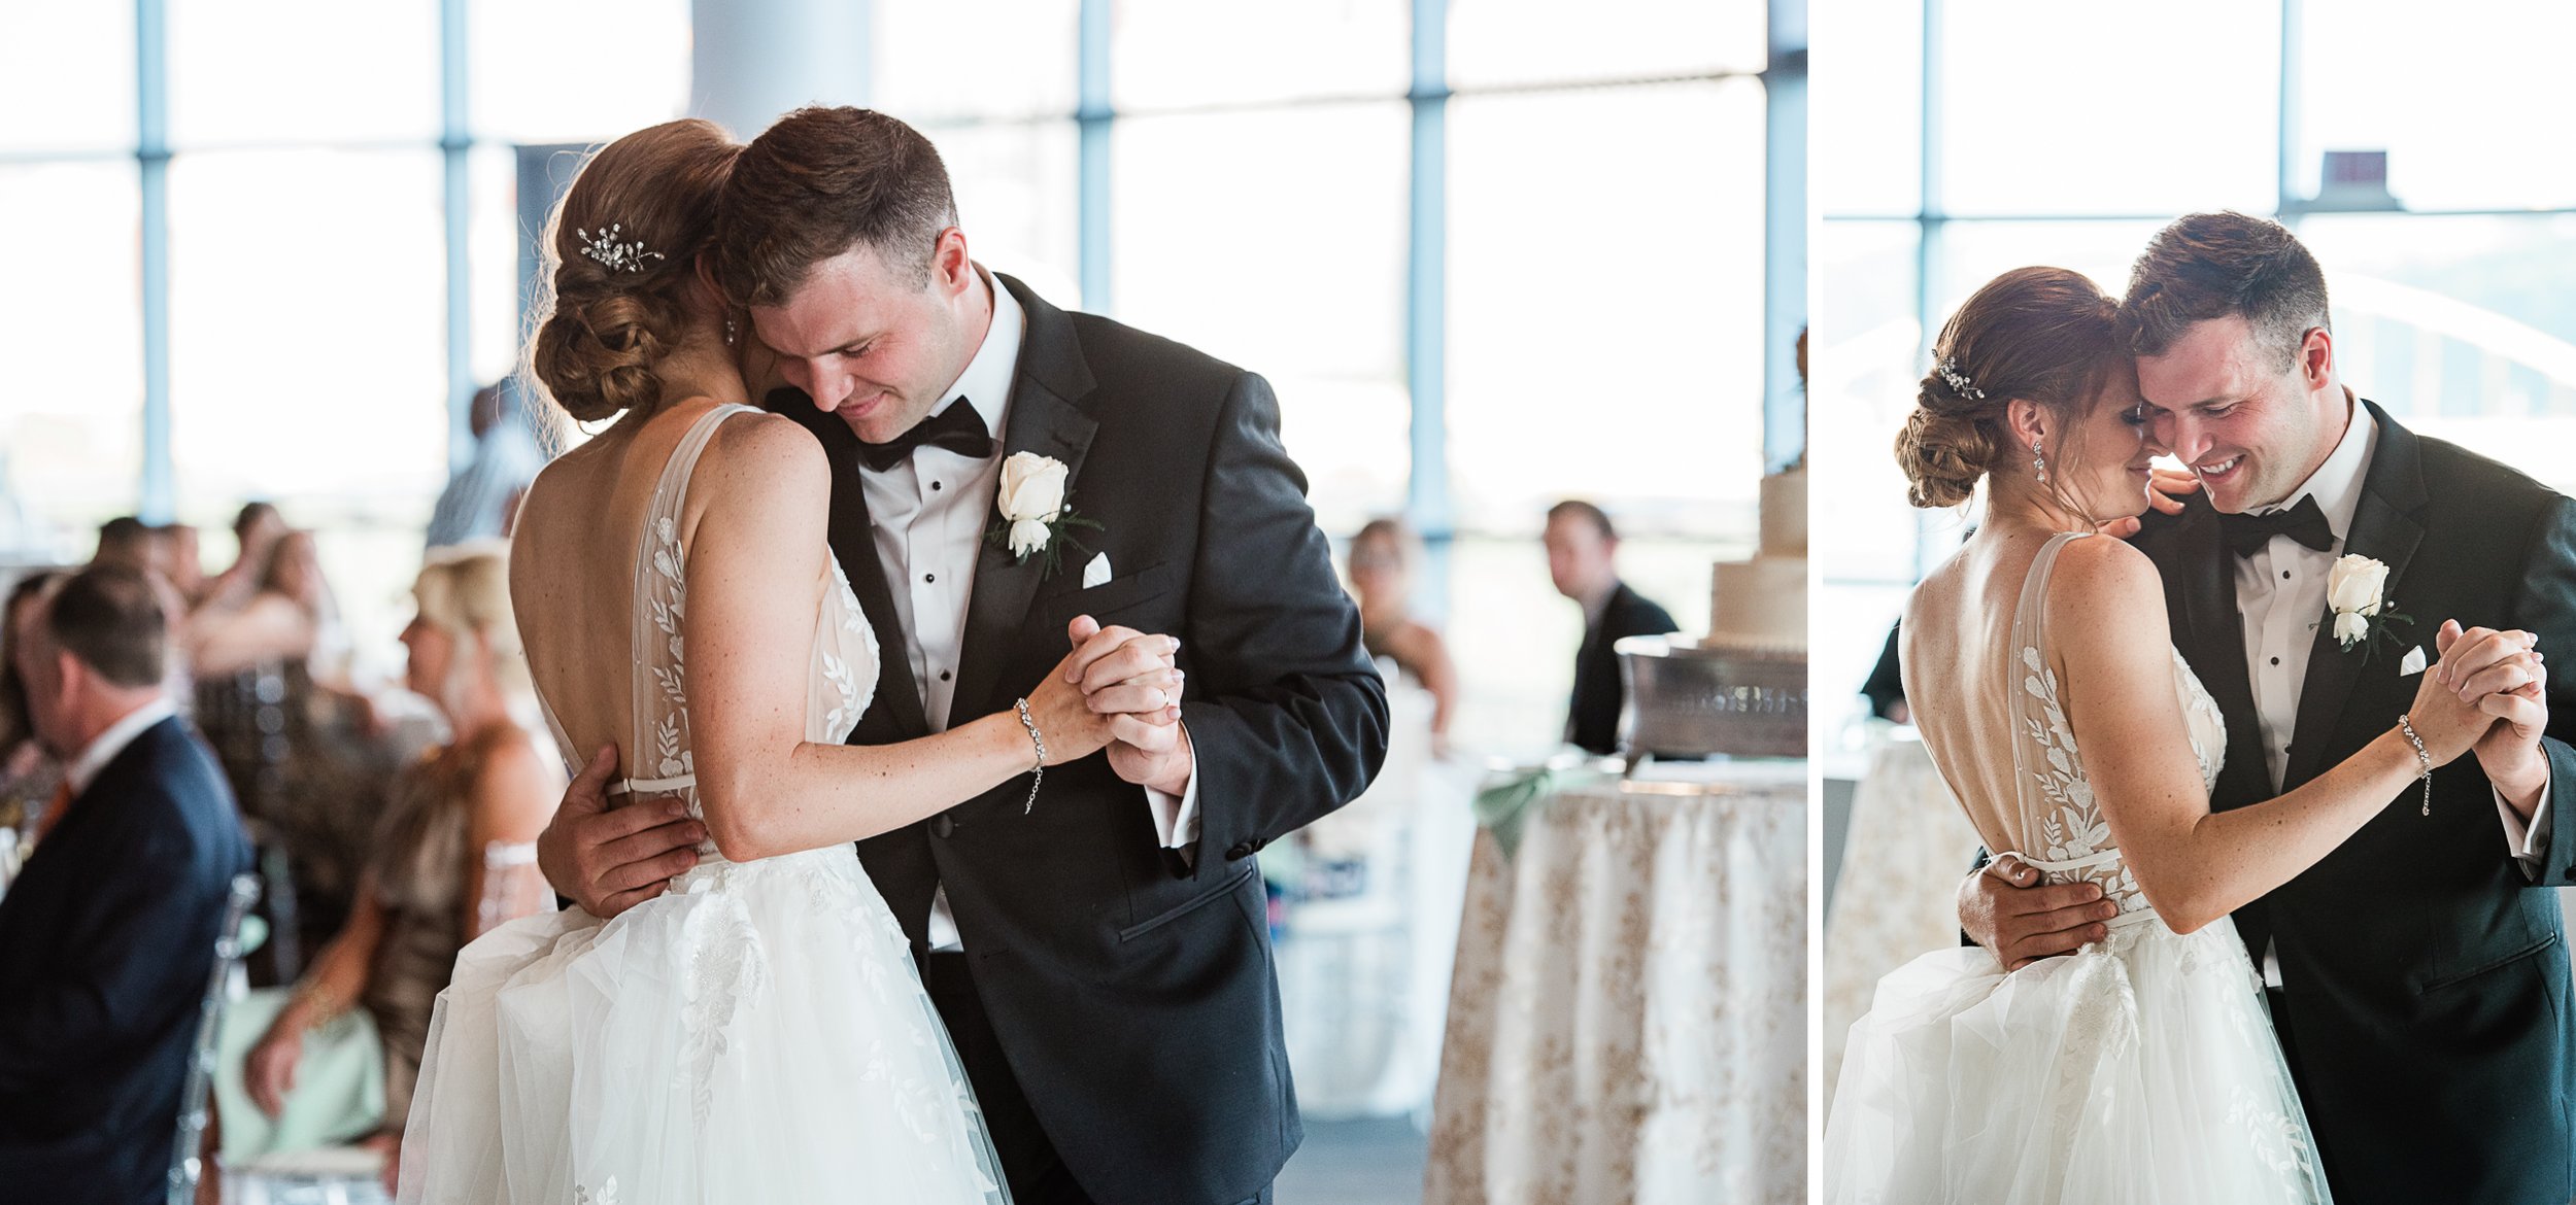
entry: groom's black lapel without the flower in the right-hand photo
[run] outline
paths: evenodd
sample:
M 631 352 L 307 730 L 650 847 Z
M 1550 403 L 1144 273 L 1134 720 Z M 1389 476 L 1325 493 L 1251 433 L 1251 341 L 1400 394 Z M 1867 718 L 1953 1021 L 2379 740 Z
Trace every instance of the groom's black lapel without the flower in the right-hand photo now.
M 2254 680 L 2246 672 L 2244 613 L 2236 608 L 2236 564 L 2221 538 L 2218 510 L 2195 497 L 2177 520 L 2172 548 L 2177 572 L 2166 597 L 2179 626 L 2174 646 L 2228 724 L 2228 757 L 2218 770 L 2210 806 L 2262 801 L 2272 790 L 2254 713 Z

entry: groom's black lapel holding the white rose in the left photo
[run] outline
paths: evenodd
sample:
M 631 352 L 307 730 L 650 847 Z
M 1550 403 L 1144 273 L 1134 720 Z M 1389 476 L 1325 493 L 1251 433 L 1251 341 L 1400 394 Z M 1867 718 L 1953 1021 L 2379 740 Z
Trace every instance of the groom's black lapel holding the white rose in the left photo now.
M 1020 363 L 1010 384 L 1010 417 L 1002 430 L 1005 461 L 1018 453 L 1038 453 L 1064 461 L 1066 507 L 1082 502 L 1082 458 L 1100 430 L 1074 402 L 1092 391 L 1090 366 L 1074 342 L 1072 319 L 1030 294 L 1028 286 L 994 273 L 994 283 L 1012 291 L 1028 327 L 1020 337 Z M 984 525 L 992 525 L 987 512 Z M 1079 574 L 1082 561 L 1061 564 L 1059 572 Z M 969 721 L 997 708 L 994 685 L 1010 662 L 1012 636 L 1028 623 L 1028 605 L 1046 579 L 1046 559 L 1028 564 L 994 546 L 976 554 L 974 592 L 966 600 L 966 646 L 958 654 L 958 690 L 948 705 L 951 721 Z

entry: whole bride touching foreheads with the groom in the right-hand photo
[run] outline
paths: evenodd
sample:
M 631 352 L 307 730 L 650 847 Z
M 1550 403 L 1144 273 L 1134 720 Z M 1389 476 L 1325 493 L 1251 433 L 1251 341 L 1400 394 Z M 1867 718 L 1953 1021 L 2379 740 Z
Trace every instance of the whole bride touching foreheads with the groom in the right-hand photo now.
M 1986 283 L 1940 335 L 1896 456 L 1919 507 L 1986 512 L 1904 618 L 1906 698 L 1996 863 L 2102 888 L 2105 937 L 2007 973 L 1935 950 L 1878 984 L 1824 1135 L 1834 1202 L 2321 1202 L 2306 1115 L 2228 911 L 2488 729 L 2424 672 L 2409 713 L 2267 803 L 2210 811 L 2215 703 L 2143 554 L 2148 445 L 2112 299 Z

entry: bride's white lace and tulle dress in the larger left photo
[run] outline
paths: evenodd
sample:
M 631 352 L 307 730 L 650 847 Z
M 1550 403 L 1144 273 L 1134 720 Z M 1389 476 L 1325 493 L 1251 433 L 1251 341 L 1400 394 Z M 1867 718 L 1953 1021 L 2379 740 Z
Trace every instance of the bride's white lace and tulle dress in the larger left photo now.
M 677 515 L 716 425 L 750 409 L 711 409 L 672 451 L 636 564 L 623 754 L 652 778 L 623 788 L 688 796 L 693 814 Z M 876 641 L 837 566 L 832 582 L 809 742 L 840 742 L 876 685 Z M 587 760 L 559 724 L 554 736 L 569 765 Z M 564 909 L 466 945 L 430 1022 L 399 1200 L 1007 1200 L 948 1032 L 850 847 L 701 855 L 611 922 Z

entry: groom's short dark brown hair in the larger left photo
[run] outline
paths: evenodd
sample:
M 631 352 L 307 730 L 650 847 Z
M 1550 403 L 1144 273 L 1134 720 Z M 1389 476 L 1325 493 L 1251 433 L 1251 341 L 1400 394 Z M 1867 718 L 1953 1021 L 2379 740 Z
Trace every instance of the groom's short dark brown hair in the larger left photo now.
M 956 224 L 948 165 L 922 131 L 873 108 L 799 108 L 734 160 L 716 201 L 716 283 L 734 304 L 778 306 L 855 247 L 925 283 Z

